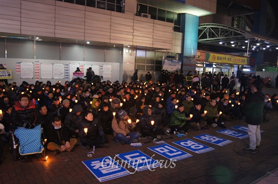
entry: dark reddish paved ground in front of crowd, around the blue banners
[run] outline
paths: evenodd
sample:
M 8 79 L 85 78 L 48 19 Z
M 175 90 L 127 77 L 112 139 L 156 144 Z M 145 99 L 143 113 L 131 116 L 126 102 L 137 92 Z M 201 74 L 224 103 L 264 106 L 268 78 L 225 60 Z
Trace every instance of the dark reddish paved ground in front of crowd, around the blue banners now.
M 263 92 L 277 94 L 278 90 L 277 88 L 268 88 L 264 89 Z M 277 177 L 274 177 L 278 175 L 277 171 L 274 171 L 278 168 L 278 112 L 270 112 L 267 115 L 270 121 L 261 125 L 261 130 L 265 133 L 261 134 L 260 151 L 256 154 L 242 152 L 242 149 L 249 145 L 248 138 L 241 140 L 217 133 L 219 128 L 191 131 L 187 137 L 173 136 L 173 139 L 165 140 L 168 144 L 193 155 L 190 158 L 176 161 L 174 168 L 156 168 L 155 171 L 144 170 L 104 183 L 278 183 Z M 226 122 L 227 128 L 238 125 L 247 126 L 243 120 Z M 193 138 L 205 133 L 233 142 L 221 147 Z M 172 143 L 188 138 L 215 148 L 215 150 L 197 154 Z M 110 140 L 110 148 L 96 149 L 96 153 L 92 154 L 92 157 L 87 157 L 88 151 L 78 146 L 74 152 L 56 156 L 49 151 L 47 161 L 45 158 L 32 158 L 29 162 L 12 161 L 8 145 L 5 145 L 5 161 L 0 165 L 0 183 L 96 183 L 99 182 L 98 179 L 81 161 L 108 155 L 113 158 L 115 154 L 136 149 L 149 156 L 155 154 L 155 159 L 167 160 L 148 149 L 148 147 L 155 146 L 155 143 L 145 144 L 142 147 L 131 147 L 114 143 L 112 137 Z M 145 141 L 141 140 L 141 142 Z M 134 171 L 132 168 L 128 170 Z M 265 175 L 266 177 L 264 177 Z

